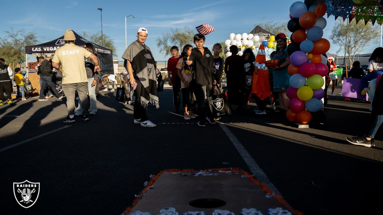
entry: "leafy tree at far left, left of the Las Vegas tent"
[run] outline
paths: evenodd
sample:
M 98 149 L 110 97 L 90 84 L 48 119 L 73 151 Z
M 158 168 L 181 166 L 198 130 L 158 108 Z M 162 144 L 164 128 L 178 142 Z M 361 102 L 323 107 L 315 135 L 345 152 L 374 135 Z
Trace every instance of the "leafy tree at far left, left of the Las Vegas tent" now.
M 0 57 L 5 59 L 6 64 L 10 63 L 11 68 L 25 62 L 25 46 L 31 46 L 38 42 L 35 32 L 25 33 L 24 29 L 18 31 L 5 31 L 7 36 L 0 37 Z

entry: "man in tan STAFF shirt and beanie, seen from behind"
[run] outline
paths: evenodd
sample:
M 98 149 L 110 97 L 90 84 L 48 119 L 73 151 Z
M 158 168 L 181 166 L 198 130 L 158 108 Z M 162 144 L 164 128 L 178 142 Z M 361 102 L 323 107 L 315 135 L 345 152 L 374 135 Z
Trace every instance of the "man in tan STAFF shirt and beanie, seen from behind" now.
M 65 45 L 56 50 L 52 59 L 52 66 L 59 69 L 62 65 L 62 90 L 67 97 L 68 116 L 64 122 L 76 122 L 75 114 L 75 91 L 79 94 L 83 106 L 82 120 L 88 121 L 88 79 L 85 71 L 84 57 L 93 60 L 95 72 L 100 71 L 97 57 L 83 47 L 75 45 L 76 37 L 72 30 L 66 30 L 64 34 Z M 96 83 L 93 81 L 92 86 Z

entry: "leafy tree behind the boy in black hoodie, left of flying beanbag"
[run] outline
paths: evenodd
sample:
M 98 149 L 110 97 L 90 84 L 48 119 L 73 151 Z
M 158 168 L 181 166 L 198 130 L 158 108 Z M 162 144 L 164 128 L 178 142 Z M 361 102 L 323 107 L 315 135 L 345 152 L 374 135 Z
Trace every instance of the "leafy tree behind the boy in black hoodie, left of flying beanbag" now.
M 170 47 L 178 46 L 180 52 L 182 51 L 183 46 L 186 44 L 193 44 L 193 36 L 195 32 L 188 27 L 183 28 L 170 28 L 171 32 L 162 34 L 155 41 L 157 42 L 157 47 L 159 47 L 159 53 L 170 55 Z

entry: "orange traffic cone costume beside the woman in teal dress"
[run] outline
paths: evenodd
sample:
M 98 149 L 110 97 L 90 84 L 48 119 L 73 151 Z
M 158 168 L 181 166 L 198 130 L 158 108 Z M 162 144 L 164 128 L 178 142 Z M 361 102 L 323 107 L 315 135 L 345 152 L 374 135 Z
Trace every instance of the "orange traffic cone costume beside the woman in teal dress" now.
M 268 78 L 268 68 L 265 63 L 265 46 L 261 44 L 257 56 L 255 57 L 255 70 L 253 73 L 253 83 L 249 98 L 253 93 L 257 94 L 262 100 L 265 100 L 272 95 L 270 91 L 270 80 Z

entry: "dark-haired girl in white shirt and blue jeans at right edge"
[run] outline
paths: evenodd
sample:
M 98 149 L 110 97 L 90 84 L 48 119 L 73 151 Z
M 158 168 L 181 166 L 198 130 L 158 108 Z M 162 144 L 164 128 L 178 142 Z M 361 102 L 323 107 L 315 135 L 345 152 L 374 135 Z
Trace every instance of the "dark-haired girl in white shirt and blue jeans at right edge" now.
M 383 74 L 383 48 L 376 48 L 368 60 L 370 61 L 367 67 L 368 73 L 361 78 L 363 89 L 362 95 L 365 95 L 368 92 L 368 81 L 371 81 Z

